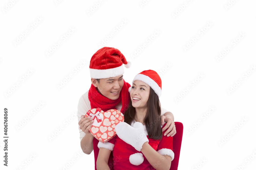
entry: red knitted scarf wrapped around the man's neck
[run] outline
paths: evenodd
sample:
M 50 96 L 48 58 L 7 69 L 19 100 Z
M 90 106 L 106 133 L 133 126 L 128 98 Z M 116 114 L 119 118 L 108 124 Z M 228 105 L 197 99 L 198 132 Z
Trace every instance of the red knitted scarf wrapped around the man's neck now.
M 128 91 L 129 87 L 131 87 L 131 85 L 124 81 L 124 85 L 119 95 L 119 98 L 116 100 L 111 100 L 100 94 L 97 90 L 97 87 L 91 85 L 88 93 L 91 108 L 101 108 L 103 111 L 116 109 L 115 106 L 122 100 L 122 109 L 120 111 L 124 113 L 127 110 L 130 102 L 130 93 Z

